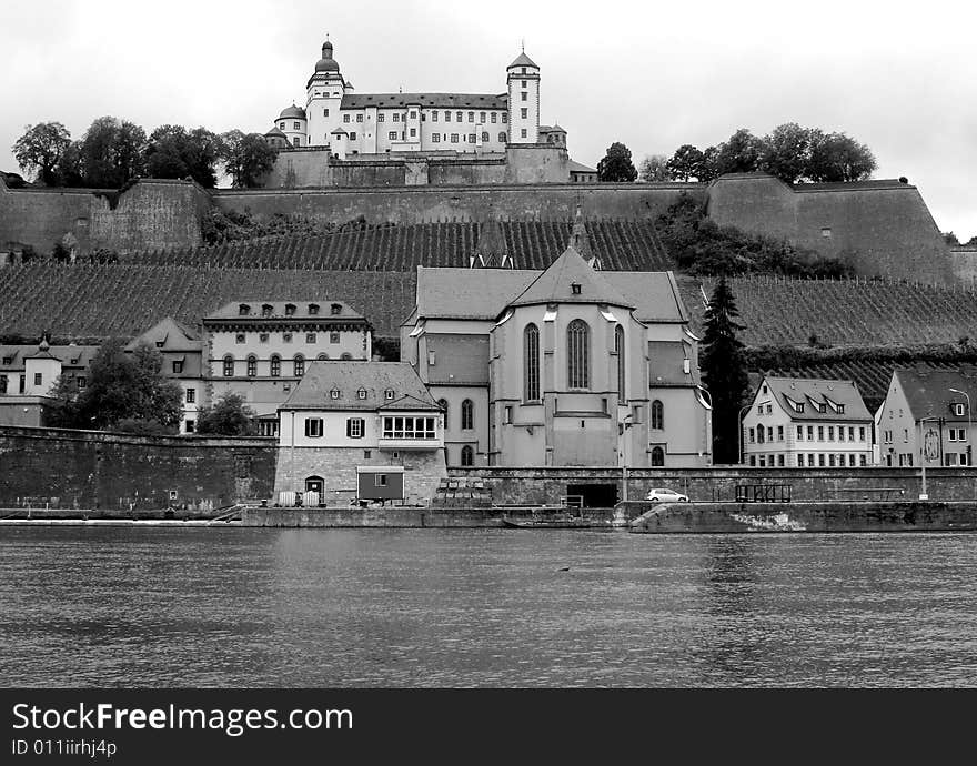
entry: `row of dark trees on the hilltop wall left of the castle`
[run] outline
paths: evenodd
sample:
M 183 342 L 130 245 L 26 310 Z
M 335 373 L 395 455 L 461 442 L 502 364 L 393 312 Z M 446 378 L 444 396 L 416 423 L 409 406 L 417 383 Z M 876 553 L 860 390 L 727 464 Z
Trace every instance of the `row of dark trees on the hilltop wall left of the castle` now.
M 98 118 L 78 140 L 60 122 L 28 125 L 12 151 L 39 184 L 93 189 L 119 189 L 139 178 L 192 179 L 212 189 L 221 171 L 234 187 L 256 187 L 278 155 L 259 133 L 218 134 L 168 124 L 147 137 L 139 125 L 115 117 Z M 22 184 L 19 178 L 14 185 Z

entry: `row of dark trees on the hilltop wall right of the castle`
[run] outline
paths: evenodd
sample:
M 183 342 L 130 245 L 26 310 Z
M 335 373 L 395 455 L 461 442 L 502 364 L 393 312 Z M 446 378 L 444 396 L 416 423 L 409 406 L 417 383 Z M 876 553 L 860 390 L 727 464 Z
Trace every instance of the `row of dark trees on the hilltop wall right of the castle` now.
M 728 140 L 704 150 L 686 143 L 671 158 L 646 157 L 637 178 L 644 182 L 707 183 L 724 173 L 765 171 L 785 183 L 826 183 L 862 181 L 870 178 L 876 167 L 872 150 L 845 133 L 787 122 L 763 137 L 741 128 Z

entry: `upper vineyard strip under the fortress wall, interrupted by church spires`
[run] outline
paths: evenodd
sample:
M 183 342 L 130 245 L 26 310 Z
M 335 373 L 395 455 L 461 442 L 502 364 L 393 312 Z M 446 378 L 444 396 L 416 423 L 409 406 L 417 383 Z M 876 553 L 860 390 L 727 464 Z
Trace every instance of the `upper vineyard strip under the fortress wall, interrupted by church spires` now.
M 566 249 L 572 221 L 500 222 L 516 269 L 545 269 Z M 674 262 L 651 221 L 597 220 L 586 223 L 594 254 L 605 269 L 667 271 Z M 265 238 L 210 248 L 182 248 L 122 256 L 124 263 L 233 269 L 326 269 L 415 271 L 463 266 L 475 251 L 480 224 L 419 223 L 372 226 L 320 235 Z

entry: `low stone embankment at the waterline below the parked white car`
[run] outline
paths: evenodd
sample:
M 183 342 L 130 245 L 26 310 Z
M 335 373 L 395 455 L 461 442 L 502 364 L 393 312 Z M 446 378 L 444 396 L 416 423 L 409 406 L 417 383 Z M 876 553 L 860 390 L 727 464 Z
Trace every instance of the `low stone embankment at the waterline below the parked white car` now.
M 977 531 L 977 502 L 627 503 L 631 532 Z M 636 513 L 637 512 L 637 513 Z

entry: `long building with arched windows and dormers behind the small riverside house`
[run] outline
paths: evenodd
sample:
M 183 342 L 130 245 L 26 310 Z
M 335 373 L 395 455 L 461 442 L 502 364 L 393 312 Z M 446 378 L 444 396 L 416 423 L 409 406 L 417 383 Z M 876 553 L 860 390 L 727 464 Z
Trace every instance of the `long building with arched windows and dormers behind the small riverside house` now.
M 274 435 L 278 407 L 315 361 L 369 361 L 373 331 L 340 301 L 234 301 L 203 319 L 207 372 L 215 401 L 241 394 Z

